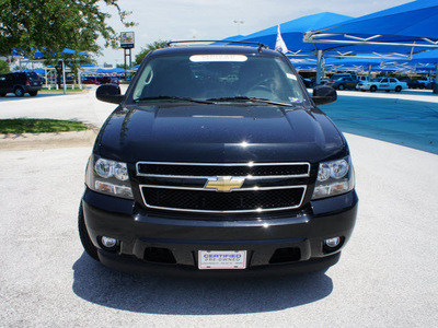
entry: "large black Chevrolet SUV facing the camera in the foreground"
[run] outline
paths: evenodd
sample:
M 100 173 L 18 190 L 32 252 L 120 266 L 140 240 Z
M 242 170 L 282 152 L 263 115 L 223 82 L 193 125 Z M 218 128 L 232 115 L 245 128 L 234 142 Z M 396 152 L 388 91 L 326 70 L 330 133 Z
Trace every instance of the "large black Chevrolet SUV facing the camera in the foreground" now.
M 126 271 L 226 277 L 339 259 L 358 198 L 347 142 L 286 56 L 263 45 L 150 52 L 103 125 L 85 173 L 85 251 Z

